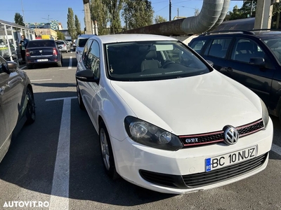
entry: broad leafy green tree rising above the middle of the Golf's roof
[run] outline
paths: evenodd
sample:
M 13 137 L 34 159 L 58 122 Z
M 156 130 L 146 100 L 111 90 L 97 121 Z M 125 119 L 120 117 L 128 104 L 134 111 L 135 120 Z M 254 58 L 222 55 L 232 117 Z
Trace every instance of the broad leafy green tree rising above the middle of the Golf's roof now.
M 153 13 L 151 1 L 125 0 L 122 18 L 126 22 L 127 29 L 136 29 L 152 25 Z

